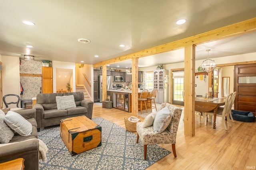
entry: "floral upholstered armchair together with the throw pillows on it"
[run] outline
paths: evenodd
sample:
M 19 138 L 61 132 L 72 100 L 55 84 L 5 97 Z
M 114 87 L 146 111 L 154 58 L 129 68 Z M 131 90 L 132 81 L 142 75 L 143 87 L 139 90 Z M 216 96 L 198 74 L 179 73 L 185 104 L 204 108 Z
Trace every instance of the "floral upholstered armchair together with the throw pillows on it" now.
M 168 103 L 161 104 L 161 110 L 157 113 L 150 113 L 144 122 L 138 122 L 137 143 L 140 140 L 144 145 L 144 159 L 147 159 L 147 145 L 150 144 L 172 144 L 172 151 L 176 157 L 176 135 L 182 109 Z

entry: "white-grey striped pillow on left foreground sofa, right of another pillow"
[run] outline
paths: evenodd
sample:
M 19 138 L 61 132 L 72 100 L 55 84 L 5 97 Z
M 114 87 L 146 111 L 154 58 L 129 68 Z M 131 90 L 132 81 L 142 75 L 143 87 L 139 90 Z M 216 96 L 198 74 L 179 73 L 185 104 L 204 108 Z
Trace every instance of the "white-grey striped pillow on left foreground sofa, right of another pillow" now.
M 4 117 L 5 123 L 21 136 L 28 136 L 32 132 L 32 125 L 22 115 L 8 111 Z

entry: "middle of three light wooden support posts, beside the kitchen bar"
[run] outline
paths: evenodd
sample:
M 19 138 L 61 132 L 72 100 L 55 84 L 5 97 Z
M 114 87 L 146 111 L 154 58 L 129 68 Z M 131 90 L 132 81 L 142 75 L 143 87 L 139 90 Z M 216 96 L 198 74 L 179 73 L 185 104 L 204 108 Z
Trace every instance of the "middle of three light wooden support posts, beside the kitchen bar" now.
M 132 59 L 132 116 L 138 117 L 138 58 Z

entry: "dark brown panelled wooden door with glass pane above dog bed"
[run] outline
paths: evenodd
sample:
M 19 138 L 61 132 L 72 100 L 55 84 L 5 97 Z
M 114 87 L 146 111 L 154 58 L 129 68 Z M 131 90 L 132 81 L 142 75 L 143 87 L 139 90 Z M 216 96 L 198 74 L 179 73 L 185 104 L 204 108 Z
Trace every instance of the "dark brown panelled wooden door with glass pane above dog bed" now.
M 240 111 L 256 110 L 256 63 L 235 66 L 235 109 Z

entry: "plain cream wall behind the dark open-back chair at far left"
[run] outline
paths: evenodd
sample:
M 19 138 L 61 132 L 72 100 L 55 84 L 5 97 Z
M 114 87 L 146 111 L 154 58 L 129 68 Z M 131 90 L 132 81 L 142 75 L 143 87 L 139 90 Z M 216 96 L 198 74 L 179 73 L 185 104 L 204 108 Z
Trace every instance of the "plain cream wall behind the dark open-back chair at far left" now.
M 3 96 L 6 94 L 17 94 L 20 96 L 19 57 L 2 56 L 2 89 Z M 5 106 L 3 105 L 3 107 Z M 10 106 L 10 108 L 12 107 L 16 106 Z

